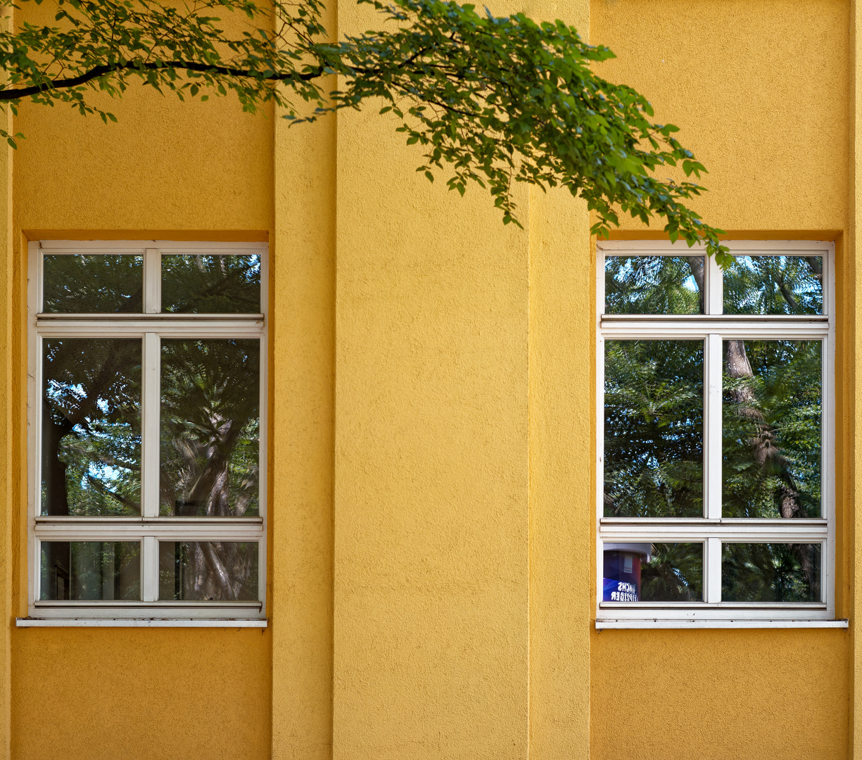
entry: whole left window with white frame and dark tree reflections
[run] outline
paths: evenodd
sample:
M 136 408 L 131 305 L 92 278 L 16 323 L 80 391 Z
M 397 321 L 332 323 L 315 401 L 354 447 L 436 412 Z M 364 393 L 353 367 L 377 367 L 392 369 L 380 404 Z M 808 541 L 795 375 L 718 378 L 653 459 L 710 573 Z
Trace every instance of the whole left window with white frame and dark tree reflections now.
M 265 620 L 265 252 L 30 244 L 31 618 Z

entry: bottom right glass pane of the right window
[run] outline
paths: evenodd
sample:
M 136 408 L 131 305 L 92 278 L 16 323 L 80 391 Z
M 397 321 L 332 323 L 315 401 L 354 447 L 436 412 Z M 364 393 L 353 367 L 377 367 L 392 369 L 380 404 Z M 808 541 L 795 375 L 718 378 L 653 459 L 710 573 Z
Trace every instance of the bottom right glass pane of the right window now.
M 721 601 L 821 601 L 820 544 L 721 545 Z

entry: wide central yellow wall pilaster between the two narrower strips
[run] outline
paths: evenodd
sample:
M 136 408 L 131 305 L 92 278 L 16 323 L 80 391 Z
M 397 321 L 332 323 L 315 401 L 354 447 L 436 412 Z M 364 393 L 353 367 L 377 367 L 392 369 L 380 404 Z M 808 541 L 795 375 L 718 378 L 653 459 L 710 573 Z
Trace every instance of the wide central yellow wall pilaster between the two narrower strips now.
M 333 754 L 526 760 L 528 234 L 377 111 L 339 115 Z

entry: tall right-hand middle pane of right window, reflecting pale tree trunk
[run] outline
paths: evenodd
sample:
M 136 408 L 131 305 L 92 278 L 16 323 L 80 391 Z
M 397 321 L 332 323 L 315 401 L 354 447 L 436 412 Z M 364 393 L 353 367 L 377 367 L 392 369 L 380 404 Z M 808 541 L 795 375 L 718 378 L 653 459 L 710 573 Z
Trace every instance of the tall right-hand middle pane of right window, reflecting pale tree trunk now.
M 725 340 L 725 517 L 821 516 L 821 341 Z

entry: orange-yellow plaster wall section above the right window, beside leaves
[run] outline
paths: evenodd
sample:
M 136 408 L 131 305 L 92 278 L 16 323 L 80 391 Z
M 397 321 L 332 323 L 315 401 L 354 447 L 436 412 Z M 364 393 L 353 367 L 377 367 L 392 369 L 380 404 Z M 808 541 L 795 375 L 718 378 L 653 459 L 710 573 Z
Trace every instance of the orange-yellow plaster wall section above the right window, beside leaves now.
M 846 229 L 849 3 L 595 0 L 591 8 L 590 41 L 617 55 L 598 71 L 640 90 L 658 121 L 681 129 L 709 169 L 696 208 L 716 227 Z

